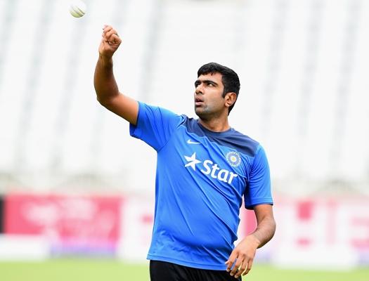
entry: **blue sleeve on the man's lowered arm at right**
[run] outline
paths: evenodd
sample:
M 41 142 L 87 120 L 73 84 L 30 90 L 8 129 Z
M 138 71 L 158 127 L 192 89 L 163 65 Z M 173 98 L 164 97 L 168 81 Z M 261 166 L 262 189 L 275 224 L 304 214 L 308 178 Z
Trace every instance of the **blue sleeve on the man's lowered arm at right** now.
M 259 204 L 273 204 L 268 159 L 261 145 L 257 148 L 244 196 L 247 209 L 254 209 Z

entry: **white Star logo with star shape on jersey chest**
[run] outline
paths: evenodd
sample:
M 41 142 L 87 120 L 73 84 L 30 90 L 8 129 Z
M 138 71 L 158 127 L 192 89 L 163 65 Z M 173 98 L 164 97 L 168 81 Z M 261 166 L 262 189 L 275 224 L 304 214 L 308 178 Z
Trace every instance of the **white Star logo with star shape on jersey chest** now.
M 231 184 L 233 179 L 238 177 L 238 174 L 233 173 L 233 171 L 228 171 L 227 169 L 221 169 L 218 164 L 214 163 L 210 159 L 205 159 L 204 161 L 196 159 L 196 152 L 194 152 L 191 156 L 184 155 L 184 158 L 188 162 L 187 164 L 185 164 L 185 167 L 190 166 L 193 171 L 198 171 L 196 170 L 196 165 L 202 163 L 200 165 L 200 172 L 207 176 L 211 176 L 218 181 L 223 181 L 224 183 Z

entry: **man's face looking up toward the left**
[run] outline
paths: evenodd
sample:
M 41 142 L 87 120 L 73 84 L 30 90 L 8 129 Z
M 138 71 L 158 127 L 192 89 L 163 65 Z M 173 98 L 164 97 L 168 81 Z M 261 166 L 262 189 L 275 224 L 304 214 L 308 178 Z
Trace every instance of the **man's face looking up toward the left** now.
M 221 74 L 200 75 L 195 81 L 195 113 L 201 119 L 210 119 L 228 112 L 224 106 L 224 85 L 221 81 Z

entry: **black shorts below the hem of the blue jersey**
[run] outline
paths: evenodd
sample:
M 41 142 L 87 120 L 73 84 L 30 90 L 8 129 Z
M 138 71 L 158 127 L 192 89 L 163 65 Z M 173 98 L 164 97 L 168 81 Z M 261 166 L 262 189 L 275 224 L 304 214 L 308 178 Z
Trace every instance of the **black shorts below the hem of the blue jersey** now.
M 207 270 L 179 266 L 166 261 L 150 261 L 151 281 L 241 281 L 226 270 Z

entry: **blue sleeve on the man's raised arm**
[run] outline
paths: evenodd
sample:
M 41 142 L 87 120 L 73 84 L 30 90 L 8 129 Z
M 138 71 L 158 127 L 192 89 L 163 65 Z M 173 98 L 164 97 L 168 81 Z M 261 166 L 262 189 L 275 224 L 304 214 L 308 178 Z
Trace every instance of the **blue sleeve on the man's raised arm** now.
M 139 102 L 136 126 L 130 124 L 129 133 L 155 150 L 160 150 L 183 119 L 183 116 L 170 110 Z

